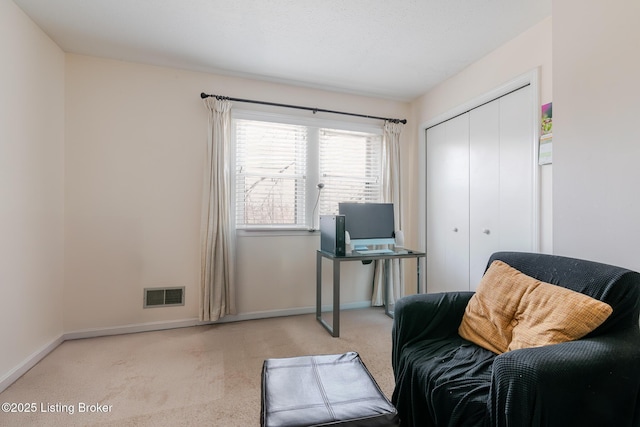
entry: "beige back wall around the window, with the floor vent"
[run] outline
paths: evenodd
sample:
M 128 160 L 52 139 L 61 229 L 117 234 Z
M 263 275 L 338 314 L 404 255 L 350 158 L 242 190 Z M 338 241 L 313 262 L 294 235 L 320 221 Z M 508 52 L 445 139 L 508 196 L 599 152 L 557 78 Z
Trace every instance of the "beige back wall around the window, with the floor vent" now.
M 66 67 L 67 332 L 198 316 L 207 138 L 200 92 L 385 117 L 409 113 L 406 103 L 87 56 L 67 55 Z M 319 237 L 306 231 L 240 235 L 239 314 L 313 308 L 318 247 Z M 369 269 L 353 264 L 344 267 L 351 286 L 343 301 L 367 301 Z M 185 286 L 185 306 L 143 309 L 143 289 L 155 286 Z

